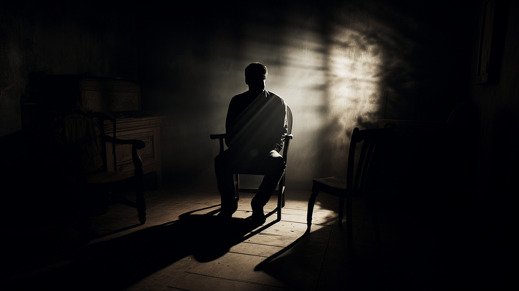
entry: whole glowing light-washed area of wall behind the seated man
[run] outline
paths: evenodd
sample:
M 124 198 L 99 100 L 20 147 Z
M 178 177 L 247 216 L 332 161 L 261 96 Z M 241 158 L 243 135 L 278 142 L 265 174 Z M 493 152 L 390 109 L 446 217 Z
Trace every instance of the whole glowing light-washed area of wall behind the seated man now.
M 247 90 L 245 66 L 267 66 L 266 89 L 294 113 L 287 179 L 308 185 L 316 177 L 344 174 L 352 130 L 376 127 L 384 49 L 362 27 L 335 23 L 323 30 L 318 19 L 302 19 L 295 16 L 279 27 L 245 23 L 238 50 L 228 52 L 233 59 L 223 62 L 235 73 L 222 75 L 227 81 L 215 87 L 225 89 L 215 91 L 227 91 L 230 101 Z M 217 124 L 223 126 L 224 119 Z

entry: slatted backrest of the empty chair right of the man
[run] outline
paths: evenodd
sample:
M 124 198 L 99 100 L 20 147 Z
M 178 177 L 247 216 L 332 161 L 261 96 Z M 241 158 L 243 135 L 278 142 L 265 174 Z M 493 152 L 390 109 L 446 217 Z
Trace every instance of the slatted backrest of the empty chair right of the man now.
M 394 128 L 359 130 L 355 128 L 351 135 L 348 154 L 347 187 L 350 190 L 367 190 L 373 183 L 384 154 L 384 145 Z M 356 160 L 357 144 L 362 143 L 360 155 Z M 355 170 L 355 165 L 357 169 Z

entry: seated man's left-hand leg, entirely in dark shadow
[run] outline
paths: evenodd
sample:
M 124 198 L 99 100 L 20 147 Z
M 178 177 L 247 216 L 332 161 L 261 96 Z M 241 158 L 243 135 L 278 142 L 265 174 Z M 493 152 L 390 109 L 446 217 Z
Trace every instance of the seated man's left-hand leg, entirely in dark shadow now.
M 230 171 L 233 159 L 230 156 L 230 152 L 226 150 L 214 158 L 216 184 L 218 185 L 218 191 L 220 191 L 222 203 L 218 216 L 230 217 L 238 209 L 233 173 Z

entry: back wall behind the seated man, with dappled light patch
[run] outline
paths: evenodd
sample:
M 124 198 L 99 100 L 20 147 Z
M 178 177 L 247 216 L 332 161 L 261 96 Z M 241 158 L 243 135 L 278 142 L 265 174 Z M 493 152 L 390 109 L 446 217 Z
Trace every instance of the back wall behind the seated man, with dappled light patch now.
M 148 7 L 138 32 L 143 107 L 172 116 L 165 167 L 212 172 L 243 70 L 269 69 L 267 90 L 294 112 L 289 180 L 343 173 L 348 135 L 387 118 L 445 120 L 466 98 L 470 8 L 393 2 Z M 441 15 L 442 21 L 438 21 Z M 469 33 L 467 33 L 469 32 Z M 419 108 L 417 113 L 416 108 Z

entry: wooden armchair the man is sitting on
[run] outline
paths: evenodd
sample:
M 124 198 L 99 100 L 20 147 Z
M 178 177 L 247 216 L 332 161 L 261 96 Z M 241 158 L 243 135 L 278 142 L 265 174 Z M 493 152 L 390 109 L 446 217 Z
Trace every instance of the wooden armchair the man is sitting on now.
M 292 116 L 292 109 L 288 105 L 286 105 L 286 122 L 288 124 L 288 131 L 285 135 L 283 150 L 282 150 L 282 156 L 285 161 L 285 164 L 288 165 L 287 159 L 288 159 L 288 153 L 289 153 L 289 146 L 290 141 L 293 138 L 292 135 L 292 123 L 293 123 L 293 116 Z M 220 153 L 223 153 L 224 151 L 224 139 L 225 139 L 225 133 L 222 134 L 211 134 L 210 135 L 211 140 L 220 140 Z M 244 193 L 256 193 L 257 188 L 241 188 L 240 187 L 240 174 L 243 175 L 257 175 L 257 173 L 235 173 L 235 187 L 236 187 L 236 198 L 240 199 L 240 192 Z M 286 168 L 281 176 L 281 179 L 279 181 L 279 188 L 275 191 L 274 195 L 278 195 L 278 220 L 281 220 L 281 208 L 285 206 L 285 182 L 286 182 Z

